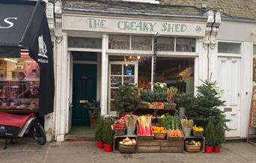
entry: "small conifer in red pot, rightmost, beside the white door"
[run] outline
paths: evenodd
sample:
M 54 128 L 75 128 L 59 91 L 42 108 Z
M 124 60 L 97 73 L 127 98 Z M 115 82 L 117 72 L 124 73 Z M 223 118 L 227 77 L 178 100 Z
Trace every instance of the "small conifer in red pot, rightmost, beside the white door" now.
M 219 153 L 221 145 L 225 142 L 225 123 L 219 121 L 216 126 L 216 144 L 213 147 L 214 153 Z

